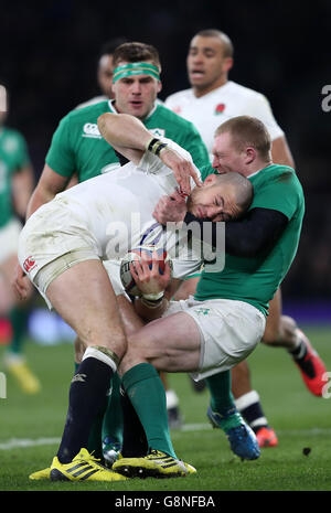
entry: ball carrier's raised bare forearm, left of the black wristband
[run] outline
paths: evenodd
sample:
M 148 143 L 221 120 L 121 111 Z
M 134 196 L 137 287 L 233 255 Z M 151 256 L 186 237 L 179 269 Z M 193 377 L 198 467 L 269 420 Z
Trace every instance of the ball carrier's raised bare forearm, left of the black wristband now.
M 117 148 L 145 151 L 151 139 L 142 122 L 127 114 L 103 114 L 98 118 L 98 128 L 106 141 Z

